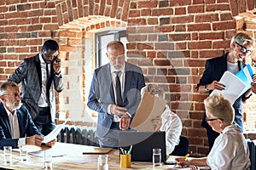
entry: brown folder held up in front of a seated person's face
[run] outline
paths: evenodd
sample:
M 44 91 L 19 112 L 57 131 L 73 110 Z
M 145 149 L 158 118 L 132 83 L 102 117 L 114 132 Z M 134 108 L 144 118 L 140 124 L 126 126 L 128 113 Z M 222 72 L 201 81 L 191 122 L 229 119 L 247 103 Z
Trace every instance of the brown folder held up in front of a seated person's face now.
M 130 127 L 138 131 L 154 131 L 151 120 L 160 116 L 165 111 L 165 106 L 165 99 L 145 93 Z

